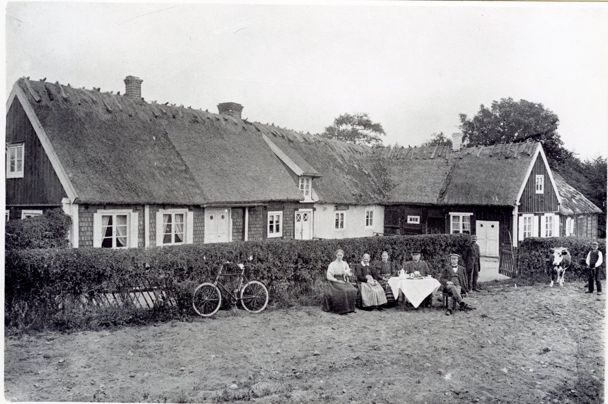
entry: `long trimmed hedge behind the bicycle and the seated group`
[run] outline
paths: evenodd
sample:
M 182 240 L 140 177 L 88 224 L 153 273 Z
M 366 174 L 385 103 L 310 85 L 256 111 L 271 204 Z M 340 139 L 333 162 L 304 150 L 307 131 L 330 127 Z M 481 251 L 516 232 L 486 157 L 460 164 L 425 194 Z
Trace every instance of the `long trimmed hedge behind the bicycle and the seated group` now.
M 282 305 L 299 300 L 310 304 L 319 301 L 327 266 L 335 259 L 338 248 L 344 249 L 345 260 L 351 266 L 364 253 L 374 261 L 381 259 L 382 251 L 388 251 L 393 260 L 401 263 L 402 257 L 411 259 L 410 251 L 419 249 L 437 276 L 447 265 L 449 252 L 461 253 L 470 240 L 469 235 L 429 234 L 151 249 L 12 250 L 5 253 L 5 324 L 24 327 L 35 322 L 39 324 L 36 327 L 83 327 L 95 312 L 94 302 L 104 293 L 126 296 L 142 280 L 164 291 L 166 301 L 177 303 L 178 312 L 192 313 L 193 288 L 201 282 L 213 282 L 226 260 L 246 263 L 246 276 L 268 285 L 271 302 Z M 247 260 L 249 256 L 253 256 L 252 261 Z M 90 304 L 80 307 L 71 303 L 82 297 Z M 162 303 L 157 306 L 162 308 Z M 129 313 L 133 316 L 133 311 Z M 75 321 L 78 316 L 80 319 Z M 120 316 L 114 317 L 118 321 Z

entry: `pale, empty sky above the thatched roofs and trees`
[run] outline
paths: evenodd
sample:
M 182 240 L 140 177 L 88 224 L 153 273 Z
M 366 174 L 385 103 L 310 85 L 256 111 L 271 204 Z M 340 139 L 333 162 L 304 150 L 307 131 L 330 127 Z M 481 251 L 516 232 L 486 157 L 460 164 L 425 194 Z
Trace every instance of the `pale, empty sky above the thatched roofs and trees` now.
M 363 112 L 385 144 L 459 131 L 513 97 L 559 117 L 565 147 L 608 155 L 608 4 L 9 2 L 5 97 L 23 76 L 320 133 Z

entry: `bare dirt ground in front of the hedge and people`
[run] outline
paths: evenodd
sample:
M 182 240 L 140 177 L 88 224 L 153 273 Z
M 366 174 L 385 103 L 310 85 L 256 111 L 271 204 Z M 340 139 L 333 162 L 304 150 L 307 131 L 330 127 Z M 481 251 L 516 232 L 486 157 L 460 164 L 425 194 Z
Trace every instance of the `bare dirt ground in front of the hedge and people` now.
M 601 403 L 605 296 L 489 282 L 478 309 L 319 307 L 5 338 L 13 401 Z

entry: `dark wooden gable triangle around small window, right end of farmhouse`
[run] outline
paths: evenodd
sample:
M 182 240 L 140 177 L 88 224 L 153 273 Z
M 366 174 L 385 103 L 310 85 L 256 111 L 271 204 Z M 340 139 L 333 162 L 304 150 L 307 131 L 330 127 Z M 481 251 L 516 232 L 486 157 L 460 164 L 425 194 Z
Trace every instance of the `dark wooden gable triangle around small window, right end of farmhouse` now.
M 536 176 L 543 175 L 544 181 L 544 192 L 536 193 Z M 558 197 L 551 185 L 551 179 L 547 172 L 545 162 L 542 161 L 542 156 L 539 155 L 534 162 L 532 172 L 526 181 L 526 185 L 523 188 L 522 197 L 519 200 L 519 213 L 537 213 L 537 212 L 557 212 L 558 211 Z

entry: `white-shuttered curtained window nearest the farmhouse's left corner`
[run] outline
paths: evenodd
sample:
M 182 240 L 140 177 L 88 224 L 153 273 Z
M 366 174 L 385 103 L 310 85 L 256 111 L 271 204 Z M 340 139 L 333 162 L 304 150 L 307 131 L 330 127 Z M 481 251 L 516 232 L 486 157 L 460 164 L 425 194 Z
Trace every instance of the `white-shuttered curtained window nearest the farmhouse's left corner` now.
M 137 247 L 137 220 L 133 209 L 98 209 L 93 214 L 93 246 L 100 248 Z

